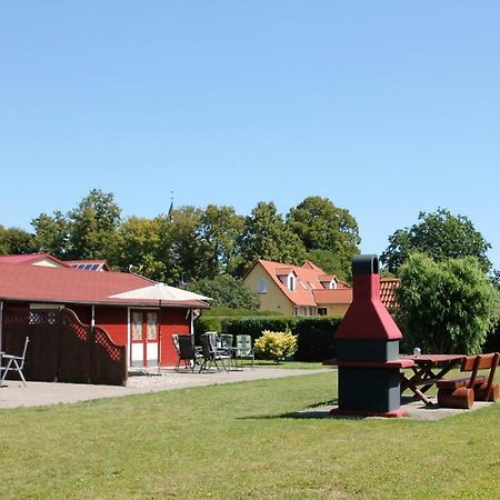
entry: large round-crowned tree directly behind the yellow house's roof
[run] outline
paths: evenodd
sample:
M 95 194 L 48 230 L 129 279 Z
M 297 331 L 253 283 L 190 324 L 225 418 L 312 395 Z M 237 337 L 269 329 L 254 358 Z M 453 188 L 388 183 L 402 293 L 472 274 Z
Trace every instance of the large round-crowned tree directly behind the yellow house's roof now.
M 338 258 L 336 273 L 350 276 L 352 258 L 359 253 L 359 228 L 349 210 L 336 207 L 328 198 L 308 197 L 287 216 L 290 229 L 306 250 L 328 250 Z

